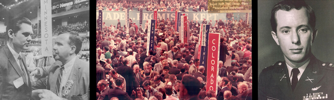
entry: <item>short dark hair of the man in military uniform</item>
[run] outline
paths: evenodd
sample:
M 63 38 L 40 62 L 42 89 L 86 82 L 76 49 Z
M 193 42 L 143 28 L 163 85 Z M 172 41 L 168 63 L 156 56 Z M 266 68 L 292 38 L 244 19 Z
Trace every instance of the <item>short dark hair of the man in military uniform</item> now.
M 278 2 L 272 9 L 271 12 L 271 26 L 272 29 L 275 33 L 277 33 L 277 20 L 276 20 L 276 12 L 278 10 L 284 10 L 284 11 L 290 11 L 291 9 L 297 9 L 300 10 L 301 8 L 306 8 L 308 14 L 309 14 L 309 23 L 311 25 L 312 30 L 314 31 L 315 28 L 315 24 L 316 24 L 316 18 L 315 18 L 315 13 L 313 11 L 313 9 L 306 4 L 305 1 L 301 1 L 301 0 L 283 0 Z

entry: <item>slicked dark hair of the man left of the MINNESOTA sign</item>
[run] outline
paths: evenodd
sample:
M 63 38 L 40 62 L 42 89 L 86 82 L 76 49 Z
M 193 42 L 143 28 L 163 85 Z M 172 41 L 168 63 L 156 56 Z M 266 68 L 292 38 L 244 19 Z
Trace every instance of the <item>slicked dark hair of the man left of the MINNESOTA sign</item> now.
M 16 34 L 17 31 L 21 30 L 20 26 L 21 26 L 22 23 L 26 23 L 26 24 L 31 25 L 31 21 L 28 18 L 25 18 L 25 17 L 16 17 L 16 18 L 13 18 L 13 19 L 9 20 L 8 25 L 6 27 L 7 37 L 9 38 L 8 30 L 13 30 L 14 34 Z

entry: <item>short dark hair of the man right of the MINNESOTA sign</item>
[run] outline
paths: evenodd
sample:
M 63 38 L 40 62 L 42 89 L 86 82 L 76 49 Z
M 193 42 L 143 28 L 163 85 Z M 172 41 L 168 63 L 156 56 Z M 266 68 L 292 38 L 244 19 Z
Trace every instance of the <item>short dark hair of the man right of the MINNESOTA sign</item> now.
M 75 46 L 75 54 L 78 54 L 79 51 L 81 50 L 81 46 L 82 46 L 82 38 L 79 36 L 79 34 L 75 31 L 60 31 L 58 33 L 58 36 L 61 34 L 65 34 L 68 33 L 69 34 L 69 41 L 68 41 L 68 45 L 70 46 Z

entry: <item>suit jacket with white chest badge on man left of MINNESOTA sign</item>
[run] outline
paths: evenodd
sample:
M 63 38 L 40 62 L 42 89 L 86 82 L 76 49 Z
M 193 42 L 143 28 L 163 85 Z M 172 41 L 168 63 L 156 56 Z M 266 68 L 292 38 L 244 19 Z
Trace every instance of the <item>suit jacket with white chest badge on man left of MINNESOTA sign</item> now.
M 1 100 L 29 100 L 31 97 L 31 84 L 30 77 L 28 81 L 26 80 L 21 67 L 17 64 L 16 59 L 13 54 L 10 52 L 9 47 L 6 45 L 5 47 L 0 49 L 0 99 Z M 22 62 L 25 68 L 25 72 L 29 76 L 29 72 L 27 70 L 27 66 L 25 66 L 25 56 L 21 55 Z M 17 85 L 19 87 L 15 87 L 18 82 L 14 81 L 18 78 L 22 77 L 23 82 L 22 85 Z

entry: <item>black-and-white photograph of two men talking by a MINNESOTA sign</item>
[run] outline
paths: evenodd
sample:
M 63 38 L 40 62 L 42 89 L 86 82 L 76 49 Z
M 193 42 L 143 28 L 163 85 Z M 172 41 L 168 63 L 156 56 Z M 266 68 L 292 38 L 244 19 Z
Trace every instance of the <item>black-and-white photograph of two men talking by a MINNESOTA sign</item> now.
M 0 99 L 89 100 L 90 0 L 0 0 Z

